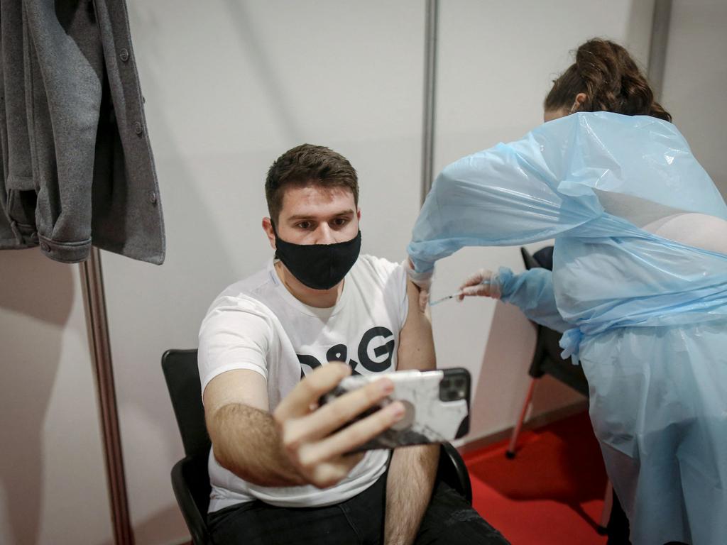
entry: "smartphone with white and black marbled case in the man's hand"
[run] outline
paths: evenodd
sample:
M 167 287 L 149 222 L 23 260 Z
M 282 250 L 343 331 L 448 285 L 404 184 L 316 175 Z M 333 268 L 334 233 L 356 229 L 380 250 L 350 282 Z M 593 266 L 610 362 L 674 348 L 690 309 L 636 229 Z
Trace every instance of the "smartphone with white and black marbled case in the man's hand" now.
M 406 413 L 392 427 L 352 452 L 443 443 L 462 437 L 470 430 L 470 372 L 464 368 L 347 376 L 321 397 L 320 404 L 384 377 L 394 383 L 394 391 L 346 425 L 393 401 L 403 403 Z

